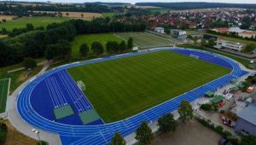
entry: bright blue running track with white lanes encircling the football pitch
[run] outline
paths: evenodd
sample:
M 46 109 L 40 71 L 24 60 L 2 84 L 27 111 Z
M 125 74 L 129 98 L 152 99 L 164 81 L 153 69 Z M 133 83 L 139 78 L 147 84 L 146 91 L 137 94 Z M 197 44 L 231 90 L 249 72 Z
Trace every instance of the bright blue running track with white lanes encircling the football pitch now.
M 86 111 L 93 106 L 86 99 L 86 96 L 79 90 L 73 78 L 67 73 L 69 67 L 78 67 L 90 63 L 108 61 L 117 58 L 141 55 L 159 50 L 171 50 L 182 55 L 194 55 L 202 61 L 207 61 L 222 67 L 232 69 L 232 72 L 212 82 L 201 85 L 194 90 L 177 96 L 172 100 L 163 102 L 158 106 L 138 113 L 131 118 L 104 124 L 102 120 L 90 125 L 82 125 L 78 113 Z M 165 113 L 172 113 L 177 110 L 177 106 L 183 100 L 194 102 L 196 99 L 204 96 L 207 91 L 215 91 L 218 88 L 229 84 L 233 78 L 239 78 L 247 72 L 241 70 L 236 61 L 222 55 L 212 54 L 206 51 L 195 49 L 180 48 L 158 48 L 141 51 L 137 53 L 128 53 L 124 55 L 114 55 L 106 58 L 97 58 L 90 61 L 74 62 L 49 70 L 47 73 L 32 78 L 30 84 L 20 92 L 17 100 L 17 109 L 20 117 L 33 127 L 44 131 L 51 131 L 61 136 L 61 142 L 64 145 L 74 144 L 107 144 L 111 141 L 114 132 L 119 131 L 123 136 L 128 136 L 136 131 L 137 126 L 142 121 L 148 123 L 154 122 Z M 73 107 L 74 115 L 55 120 L 52 110 L 55 107 L 61 107 L 70 104 Z

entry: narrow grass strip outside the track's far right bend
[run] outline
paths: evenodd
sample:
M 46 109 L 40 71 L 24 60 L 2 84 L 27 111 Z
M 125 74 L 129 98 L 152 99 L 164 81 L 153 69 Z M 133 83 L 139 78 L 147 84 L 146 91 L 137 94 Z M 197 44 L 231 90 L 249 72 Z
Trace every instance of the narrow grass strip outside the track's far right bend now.
M 249 64 L 250 64 L 250 61 L 248 61 L 246 59 L 242 59 L 240 57 L 236 57 L 236 56 L 233 56 L 233 55 L 227 55 L 223 52 L 220 52 L 220 51 L 214 50 L 214 49 L 205 49 L 205 48 L 202 48 L 200 46 L 195 46 L 195 45 L 191 45 L 191 44 L 180 44 L 180 45 L 177 45 L 177 46 L 178 47 L 183 47 L 183 48 L 188 48 L 188 49 L 201 49 L 201 50 L 206 50 L 206 51 L 213 52 L 213 53 L 216 53 L 216 54 L 219 54 L 219 55 L 224 55 L 224 56 L 230 57 L 233 60 L 236 60 L 236 61 L 240 62 L 245 67 L 248 67 Z

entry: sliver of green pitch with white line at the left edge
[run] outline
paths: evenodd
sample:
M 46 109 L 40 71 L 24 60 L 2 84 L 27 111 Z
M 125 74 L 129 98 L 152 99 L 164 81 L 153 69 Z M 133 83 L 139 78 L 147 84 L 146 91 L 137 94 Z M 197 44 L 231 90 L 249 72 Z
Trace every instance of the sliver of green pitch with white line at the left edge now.
M 0 79 L 0 113 L 5 111 L 9 89 L 9 78 Z

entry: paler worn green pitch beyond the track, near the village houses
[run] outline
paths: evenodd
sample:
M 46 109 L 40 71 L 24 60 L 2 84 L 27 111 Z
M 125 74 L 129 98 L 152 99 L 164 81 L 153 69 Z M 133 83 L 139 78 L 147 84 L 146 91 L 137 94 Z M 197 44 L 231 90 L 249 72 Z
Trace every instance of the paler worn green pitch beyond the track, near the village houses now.
M 160 38 L 146 32 L 119 32 L 116 33 L 116 35 L 120 38 L 124 38 L 125 40 L 128 40 L 128 38 L 133 38 L 133 43 L 141 49 L 173 46 L 173 44 L 175 44 L 175 42 L 171 39 Z

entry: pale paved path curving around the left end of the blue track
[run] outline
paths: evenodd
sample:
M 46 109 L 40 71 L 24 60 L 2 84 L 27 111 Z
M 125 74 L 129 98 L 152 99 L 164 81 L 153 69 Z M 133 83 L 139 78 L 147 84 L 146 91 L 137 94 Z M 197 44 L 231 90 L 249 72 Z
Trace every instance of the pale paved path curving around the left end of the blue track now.
M 48 67 L 49 67 L 49 63 L 47 61 L 45 61 L 44 67 L 38 73 L 38 75 L 44 73 Z M 29 80 L 27 80 L 25 83 L 21 84 L 19 86 L 19 88 L 17 88 L 11 96 L 8 96 L 7 104 L 6 104 L 6 113 L 7 113 L 10 123 L 15 126 L 15 129 L 17 129 L 21 133 L 25 134 L 26 136 L 30 136 L 30 137 L 38 140 L 37 134 L 32 132 L 33 127 L 31 125 L 28 125 L 23 119 L 20 118 L 20 114 L 17 113 L 17 108 L 16 108 L 17 107 L 16 106 L 17 96 L 18 96 L 20 90 L 22 90 L 23 87 L 25 87 L 26 84 L 28 84 L 28 83 L 29 83 Z M 47 132 L 47 131 L 42 131 L 39 129 L 37 129 L 37 130 L 40 131 L 39 136 L 40 136 L 41 140 L 49 142 L 50 145 L 61 144 L 60 138 L 58 135 Z

